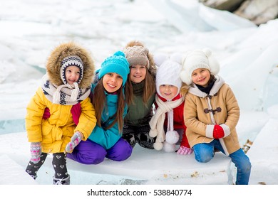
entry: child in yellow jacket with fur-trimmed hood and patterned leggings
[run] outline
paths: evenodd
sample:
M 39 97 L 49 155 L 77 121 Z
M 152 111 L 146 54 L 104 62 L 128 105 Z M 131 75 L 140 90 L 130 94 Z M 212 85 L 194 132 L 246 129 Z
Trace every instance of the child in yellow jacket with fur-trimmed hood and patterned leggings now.
M 34 179 L 46 156 L 53 154 L 53 184 L 70 184 L 66 152 L 85 141 L 96 126 L 95 109 L 88 97 L 94 70 L 88 51 L 73 42 L 58 45 L 48 58 L 46 75 L 26 114 L 31 142 L 26 172 Z M 48 117 L 43 115 L 45 109 Z

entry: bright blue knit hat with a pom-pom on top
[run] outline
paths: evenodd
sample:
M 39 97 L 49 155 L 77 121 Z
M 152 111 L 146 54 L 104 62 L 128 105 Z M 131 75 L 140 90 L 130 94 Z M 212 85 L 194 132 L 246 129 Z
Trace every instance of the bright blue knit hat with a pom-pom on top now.
M 114 55 L 103 61 L 98 73 L 98 78 L 101 79 L 101 77 L 108 72 L 115 72 L 120 75 L 123 78 L 123 85 L 125 85 L 129 74 L 129 63 L 122 51 L 115 52 Z

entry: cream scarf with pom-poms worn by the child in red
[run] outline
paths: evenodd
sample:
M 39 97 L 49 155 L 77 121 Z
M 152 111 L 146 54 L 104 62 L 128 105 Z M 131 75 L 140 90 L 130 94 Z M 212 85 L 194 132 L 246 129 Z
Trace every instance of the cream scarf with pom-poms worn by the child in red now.
M 155 137 L 155 142 L 163 143 L 165 141 L 165 131 L 163 128 L 165 113 L 168 112 L 168 131 L 173 131 L 173 109 L 180 106 L 184 101 L 184 97 L 180 97 L 175 101 L 163 102 L 158 95 L 155 96 L 155 102 L 158 104 L 158 109 L 156 109 L 155 114 L 152 119 L 150 119 L 150 136 Z

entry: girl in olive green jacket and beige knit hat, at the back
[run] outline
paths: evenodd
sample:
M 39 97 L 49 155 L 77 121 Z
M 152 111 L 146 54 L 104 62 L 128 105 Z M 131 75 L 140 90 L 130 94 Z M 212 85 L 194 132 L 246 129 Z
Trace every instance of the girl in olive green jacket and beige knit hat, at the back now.
M 128 103 L 128 114 L 125 116 L 123 139 L 133 147 L 139 144 L 154 149 L 155 138 L 149 136 L 155 102 L 156 67 L 153 55 L 140 41 L 130 41 L 123 52 L 128 59 L 128 81 L 133 90 L 132 102 Z

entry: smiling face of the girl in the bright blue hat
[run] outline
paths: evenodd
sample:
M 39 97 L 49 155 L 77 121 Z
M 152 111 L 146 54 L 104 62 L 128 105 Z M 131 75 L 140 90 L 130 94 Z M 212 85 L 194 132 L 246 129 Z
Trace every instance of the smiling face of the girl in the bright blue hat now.
M 103 87 L 106 92 L 116 92 L 123 84 L 123 78 L 115 72 L 108 72 L 103 76 Z

